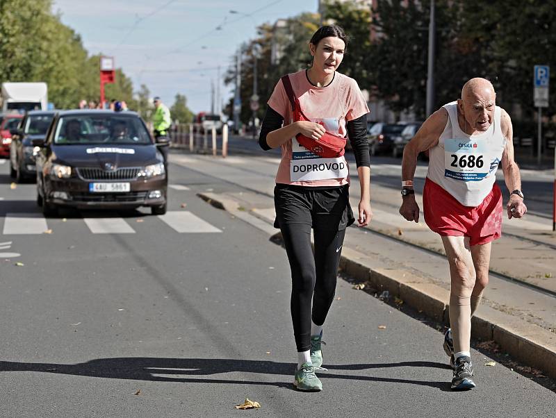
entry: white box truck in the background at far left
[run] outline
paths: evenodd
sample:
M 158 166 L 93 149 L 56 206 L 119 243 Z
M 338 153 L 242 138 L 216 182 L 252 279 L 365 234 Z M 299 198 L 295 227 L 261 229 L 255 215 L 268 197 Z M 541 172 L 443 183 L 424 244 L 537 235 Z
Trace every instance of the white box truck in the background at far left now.
M 47 83 L 2 83 L 0 105 L 8 110 L 47 110 Z

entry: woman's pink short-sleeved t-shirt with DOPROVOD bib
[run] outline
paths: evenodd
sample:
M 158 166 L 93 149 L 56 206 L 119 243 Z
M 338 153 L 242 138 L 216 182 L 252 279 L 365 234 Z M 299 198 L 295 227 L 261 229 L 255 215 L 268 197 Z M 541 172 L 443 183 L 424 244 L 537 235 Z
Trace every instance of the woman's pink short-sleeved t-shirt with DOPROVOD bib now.
M 353 78 L 336 72 L 332 83 L 326 87 L 316 87 L 309 83 L 304 69 L 289 76 L 303 114 L 312 122 L 324 124 L 330 133 L 346 137 L 345 122 L 369 112 L 357 81 Z M 291 124 L 291 103 L 281 80 L 268 99 L 268 106 L 284 117 L 284 126 Z M 281 145 L 281 154 L 276 183 L 313 187 L 349 183 L 349 170 L 343 156 L 320 158 L 300 147 L 295 139 Z

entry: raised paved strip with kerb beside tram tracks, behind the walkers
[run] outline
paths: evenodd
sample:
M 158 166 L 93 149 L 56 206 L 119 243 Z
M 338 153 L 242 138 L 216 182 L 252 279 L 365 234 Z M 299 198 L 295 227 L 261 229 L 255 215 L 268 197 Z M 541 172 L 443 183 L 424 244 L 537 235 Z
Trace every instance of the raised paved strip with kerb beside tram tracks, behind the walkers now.
M 243 189 L 240 192 L 215 190 L 202 197 L 265 231 L 269 237 L 277 237 L 277 230 L 272 227 L 275 159 L 231 157 L 215 160 L 207 156 L 172 154 L 170 160 L 240 186 Z M 377 188 L 384 194 L 394 192 L 375 186 L 375 194 Z M 357 207 L 355 197 L 352 206 Z M 372 229 L 352 227 L 346 234 L 341 267 L 357 281 L 368 283 L 379 292 L 388 290 L 391 297 L 400 298 L 416 310 L 447 324 L 450 276 L 448 263 L 439 254 L 439 238 L 423 224 L 400 223 L 397 209 L 385 203 L 373 203 L 373 212 Z M 542 221 L 530 220 L 530 229 L 526 232 L 526 235 L 539 238 L 539 244 L 532 244 L 526 237 L 505 237 L 503 245 L 493 251 L 496 253 L 493 262 L 507 269 L 509 276 L 515 276 L 516 271 L 525 275 L 532 268 L 546 271 L 547 276 L 556 274 L 554 249 L 547 246 L 556 244 L 554 236 L 536 235 L 535 228 L 544 226 Z M 512 226 L 507 224 L 504 228 L 512 231 Z M 555 279 L 539 275 L 529 274 L 525 278 L 532 285 L 556 292 Z M 473 337 L 494 340 L 512 357 L 556 377 L 556 299 L 548 292 L 491 274 L 484 301 L 473 319 Z

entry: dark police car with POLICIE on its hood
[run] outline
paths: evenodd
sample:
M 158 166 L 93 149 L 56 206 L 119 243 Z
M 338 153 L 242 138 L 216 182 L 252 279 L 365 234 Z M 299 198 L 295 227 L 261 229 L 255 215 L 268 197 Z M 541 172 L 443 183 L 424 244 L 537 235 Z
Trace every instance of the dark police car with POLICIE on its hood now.
M 45 216 L 58 207 L 166 212 L 165 160 L 136 112 L 65 110 L 57 112 L 37 165 L 37 203 Z

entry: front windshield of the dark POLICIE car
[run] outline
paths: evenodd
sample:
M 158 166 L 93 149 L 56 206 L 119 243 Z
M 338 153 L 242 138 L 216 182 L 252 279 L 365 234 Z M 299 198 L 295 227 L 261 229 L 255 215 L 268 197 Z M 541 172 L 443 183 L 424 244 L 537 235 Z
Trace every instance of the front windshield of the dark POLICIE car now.
M 139 117 L 72 115 L 60 117 L 55 144 L 152 144 Z

